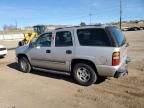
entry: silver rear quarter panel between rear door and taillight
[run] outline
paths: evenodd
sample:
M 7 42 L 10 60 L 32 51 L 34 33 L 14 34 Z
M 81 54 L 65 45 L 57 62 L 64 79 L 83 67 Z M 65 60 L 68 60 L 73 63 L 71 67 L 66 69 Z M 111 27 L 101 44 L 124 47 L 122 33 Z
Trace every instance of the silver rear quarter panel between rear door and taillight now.
M 111 65 L 113 47 L 79 46 L 75 49 L 75 58 L 90 60 L 95 65 Z

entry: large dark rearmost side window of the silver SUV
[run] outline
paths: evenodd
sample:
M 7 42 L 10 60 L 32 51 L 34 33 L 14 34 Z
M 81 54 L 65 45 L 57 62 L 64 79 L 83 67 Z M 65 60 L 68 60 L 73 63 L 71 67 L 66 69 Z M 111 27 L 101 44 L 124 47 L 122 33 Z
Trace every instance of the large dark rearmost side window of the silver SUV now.
M 77 36 L 82 46 L 111 46 L 108 35 L 104 29 L 78 29 Z

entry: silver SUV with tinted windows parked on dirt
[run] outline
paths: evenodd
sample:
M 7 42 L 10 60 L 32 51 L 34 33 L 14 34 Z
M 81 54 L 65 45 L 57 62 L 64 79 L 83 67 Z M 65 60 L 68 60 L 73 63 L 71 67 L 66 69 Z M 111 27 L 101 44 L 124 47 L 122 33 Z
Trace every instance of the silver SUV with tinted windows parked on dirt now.
M 120 77 L 128 73 L 125 36 L 114 26 L 77 26 L 41 34 L 16 49 L 21 71 L 43 69 L 69 73 L 84 86 L 100 76 Z

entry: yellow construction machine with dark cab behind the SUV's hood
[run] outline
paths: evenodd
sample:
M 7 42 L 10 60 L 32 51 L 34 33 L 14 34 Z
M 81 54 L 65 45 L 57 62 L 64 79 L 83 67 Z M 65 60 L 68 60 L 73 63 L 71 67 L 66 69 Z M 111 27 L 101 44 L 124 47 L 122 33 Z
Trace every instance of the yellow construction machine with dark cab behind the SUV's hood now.
M 46 31 L 45 25 L 35 25 L 33 26 L 33 31 L 31 33 L 24 33 L 24 39 L 18 43 L 19 46 L 23 46 L 31 42 L 31 40 Z

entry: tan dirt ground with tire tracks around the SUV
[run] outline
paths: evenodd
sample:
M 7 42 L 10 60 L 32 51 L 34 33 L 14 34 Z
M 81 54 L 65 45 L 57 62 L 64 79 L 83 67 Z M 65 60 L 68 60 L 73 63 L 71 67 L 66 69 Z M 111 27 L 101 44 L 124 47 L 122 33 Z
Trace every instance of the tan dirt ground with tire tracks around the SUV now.
M 15 41 L 0 59 L 0 108 L 144 108 L 144 31 L 125 33 L 129 46 L 129 74 L 108 78 L 89 87 L 71 77 L 32 71 L 25 74 L 15 64 Z

